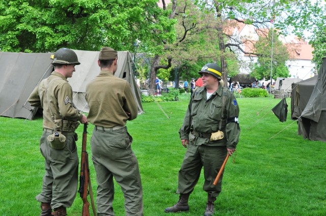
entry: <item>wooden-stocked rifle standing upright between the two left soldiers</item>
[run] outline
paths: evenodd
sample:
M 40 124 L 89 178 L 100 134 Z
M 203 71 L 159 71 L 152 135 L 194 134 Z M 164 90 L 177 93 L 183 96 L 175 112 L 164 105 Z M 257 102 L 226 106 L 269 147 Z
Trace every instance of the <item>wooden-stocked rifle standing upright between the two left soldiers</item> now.
M 79 190 L 78 193 L 83 200 L 82 216 L 90 216 L 90 203 L 87 200 L 88 192 L 90 193 L 93 214 L 96 216 L 95 204 L 93 198 L 92 184 L 90 178 L 90 168 L 88 164 L 88 153 L 86 151 L 87 143 L 87 125 L 84 124 L 83 144 L 82 144 L 82 161 L 80 162 Z M 89 191 L 88 191 L 89 189 Z

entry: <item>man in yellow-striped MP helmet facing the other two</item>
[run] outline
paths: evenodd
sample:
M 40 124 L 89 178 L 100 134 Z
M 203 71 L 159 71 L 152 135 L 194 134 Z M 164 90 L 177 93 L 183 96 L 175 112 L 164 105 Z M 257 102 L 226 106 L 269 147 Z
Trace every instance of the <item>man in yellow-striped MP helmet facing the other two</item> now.
M 234 95 L 221 84 L 220 66 L 206 64 L 199 74 L 203 86 L 197 88 L 179 130 L 181 144 L 187 148 L 178 175 L 179 201 L 165 212 L 188 211 L 188 198 L 193 192 L 204 167 L 204 186 L 207 204 L 204 216 L 214 213 L 214 201 L 222 191 L 221 175 L 213 185 L 227 154 L 236 149 L 240 128 L 239 107 Z

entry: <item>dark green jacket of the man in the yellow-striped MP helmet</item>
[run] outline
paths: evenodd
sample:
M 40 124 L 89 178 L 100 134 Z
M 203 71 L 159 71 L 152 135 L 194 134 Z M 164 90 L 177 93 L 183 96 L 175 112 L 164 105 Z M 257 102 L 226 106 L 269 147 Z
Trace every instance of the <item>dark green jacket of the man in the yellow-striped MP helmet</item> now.
M 199 87 L 192 95 L 186 111 L 182 127 L 179 130 L 180 139 L 187 139 L 193 145 L 227 146 L 236 148 L 239 141 L 240 127 L 238 124 L 239 106 L 230 90 L 226 90 L 225 117 L 222 117 L 222 85 L 210 96 L 206 98 L 206 88 Z M 209 138 L 194 136 L 191 131 L 211 134 L 219 130 L 222 120 L 221 131 L 224 138 L 210 141 Z

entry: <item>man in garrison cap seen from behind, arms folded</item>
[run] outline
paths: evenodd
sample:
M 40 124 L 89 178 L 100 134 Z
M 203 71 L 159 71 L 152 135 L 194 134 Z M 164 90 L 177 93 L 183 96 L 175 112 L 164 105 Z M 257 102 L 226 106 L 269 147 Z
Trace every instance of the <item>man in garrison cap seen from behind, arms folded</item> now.
M 126 127 L 127 120 L 137 117 L 138 107 L 129 83 L 114 76 L 118 52 L 103 47 L 97 63 L 101 71 L 86 86 L 90 107 L 87 117 L 95 125 L 91 149 L 98 185 L 97 215 L 115 215 L 113 178 L 124 193 L 126 215 L 144 215 L 138 161 L 131 150 L 132 137 Z

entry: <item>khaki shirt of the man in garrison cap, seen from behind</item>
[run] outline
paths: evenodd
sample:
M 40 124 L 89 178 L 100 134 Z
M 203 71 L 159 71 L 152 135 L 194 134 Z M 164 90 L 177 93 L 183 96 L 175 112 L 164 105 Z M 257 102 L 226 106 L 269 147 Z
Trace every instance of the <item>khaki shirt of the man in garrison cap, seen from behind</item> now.
M 87 84 L 86 101 L 90 107 L 87 118 L 95 126 L 125 126 L 127 120 L 135 119 L 138 114 L 129 83 L 107 70 L 101 70 Z

